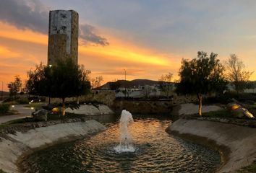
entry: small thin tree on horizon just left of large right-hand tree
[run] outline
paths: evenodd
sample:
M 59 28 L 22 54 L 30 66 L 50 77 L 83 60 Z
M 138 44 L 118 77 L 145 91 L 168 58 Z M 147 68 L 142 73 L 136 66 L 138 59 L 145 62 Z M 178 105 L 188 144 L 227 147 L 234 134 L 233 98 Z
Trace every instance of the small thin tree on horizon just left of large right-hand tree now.
M 161 78 L 158 79 L 159 88 L 169 97 L 169 93 L 173 90 L 173 85 L 171 84 L 171 79 L 174 74 L 162 74 Z

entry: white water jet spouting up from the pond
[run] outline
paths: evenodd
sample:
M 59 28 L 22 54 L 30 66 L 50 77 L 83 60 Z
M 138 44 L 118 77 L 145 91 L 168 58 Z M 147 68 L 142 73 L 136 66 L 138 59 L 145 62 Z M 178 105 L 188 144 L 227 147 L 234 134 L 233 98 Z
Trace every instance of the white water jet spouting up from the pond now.
M 132 143 L 132 136 L 129 133 L 129 126 L 132 125 L 132 123 L 132 114 L 127 110 L 122 110 L 119 120 L 120 143 L 119 146 L 114 147 L 114 150 L 117 153 L 135 152 L 135 146 Z

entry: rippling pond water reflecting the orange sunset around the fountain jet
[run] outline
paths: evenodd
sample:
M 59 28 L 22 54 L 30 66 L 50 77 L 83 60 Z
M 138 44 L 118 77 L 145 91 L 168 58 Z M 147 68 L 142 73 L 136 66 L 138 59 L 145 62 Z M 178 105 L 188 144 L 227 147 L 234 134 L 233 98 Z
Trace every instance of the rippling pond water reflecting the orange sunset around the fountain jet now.
M 163 115 L 133 115 L 130 132 L 135 152 L 118 153 L 119 115 L 98 120 L 108 128 L 91 138 L 37 151 L 23 161 L 25 172 L 215 172 L 216 151 L 166 133 Z M 54 132 L 53 132 L 54 133 Z

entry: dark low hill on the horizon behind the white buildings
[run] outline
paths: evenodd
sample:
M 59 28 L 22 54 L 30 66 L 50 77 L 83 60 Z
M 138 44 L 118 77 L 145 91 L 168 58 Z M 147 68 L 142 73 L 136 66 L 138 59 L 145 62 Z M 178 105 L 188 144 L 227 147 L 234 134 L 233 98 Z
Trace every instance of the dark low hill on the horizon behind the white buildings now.
M 120 87 L 127 87 L 127 88 L 138 88 L 139 86 L 143 85 L 154 85 L 154 84 L 159 84 L 159 81 L 153 81 L 153 80 L 148 80 L 148 79 L 135 79 L 132 81 L 125 81 L 125 80 L 118 80 L 119 83 L 121 84 Z M 99 87 L 99 89 L 108 89 L 109 84 L 113 81 L 108 81 L 106 84 L 103 84 L 102 86 Z

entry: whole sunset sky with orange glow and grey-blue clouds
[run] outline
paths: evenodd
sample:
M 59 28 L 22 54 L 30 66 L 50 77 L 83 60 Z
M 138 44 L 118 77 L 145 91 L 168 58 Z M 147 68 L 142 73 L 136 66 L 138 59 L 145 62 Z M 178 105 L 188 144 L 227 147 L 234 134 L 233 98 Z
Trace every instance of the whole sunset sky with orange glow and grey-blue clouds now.
M 255 0 L 0 0 L 0 81 L 47 62 L 48 12 L 79 13 L 79 63 L 104 82 L 178 79 L 182 58 L 198 50 L 235 53 L 256 80 Z M 1 84 L 1 82 L 0 82 Z M 0 89 L 1 90 L 1 89 Z

